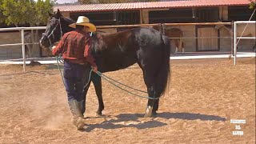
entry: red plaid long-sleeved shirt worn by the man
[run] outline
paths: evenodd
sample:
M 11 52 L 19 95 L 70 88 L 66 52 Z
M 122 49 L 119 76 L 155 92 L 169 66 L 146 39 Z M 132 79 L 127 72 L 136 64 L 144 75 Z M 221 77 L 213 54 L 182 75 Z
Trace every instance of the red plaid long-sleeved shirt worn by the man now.
M 79 30 L 70 31 L 63 35 L 58 46 L 52 51 L 57 56 L 62 54 L 63 59 L 74 60 L 77 63 L 89 62 L 91 66 L 96 66 L 94 57 L 90 53 L 91 38 Z

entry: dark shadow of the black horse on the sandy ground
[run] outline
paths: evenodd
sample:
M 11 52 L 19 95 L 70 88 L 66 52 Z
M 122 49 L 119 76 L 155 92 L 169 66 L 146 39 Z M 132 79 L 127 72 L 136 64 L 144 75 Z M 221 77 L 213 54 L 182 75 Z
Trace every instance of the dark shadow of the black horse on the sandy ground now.
M 108 117 L 108 116 L 106 116 Z M 119 114 L 114 118 L 109 117 L 109 120 L 105 120 L 99 124 L 87 124 L 86 129 L 84 131 L 90 132 L 94 129 L 118 129 L 124 127 L 134 127 L 138 130 L 149 129 L 154 127 L 166 126 L 165 122 L 159 122 L 158 118 L 175 118 L 175 119 L 183 119 L 183 120 L 202 120 L 202 121 L 226 121 L 226 118 L 222 118 L 214 115 L 206 115 L 206 114 L 191 114 L 191 113 L 159 113 L 156 118 L 149 118 L 145 121 L 140 118 L 143 117 L 143 114 Z

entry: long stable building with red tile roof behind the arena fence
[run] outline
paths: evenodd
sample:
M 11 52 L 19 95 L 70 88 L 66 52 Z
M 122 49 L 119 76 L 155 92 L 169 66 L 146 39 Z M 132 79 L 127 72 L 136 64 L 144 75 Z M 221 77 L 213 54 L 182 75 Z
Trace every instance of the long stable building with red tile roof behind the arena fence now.
M 62 14 L 76 21 L 78 16 L 90 18 L 98 28 L 106 32 L 117 32 L 115 25 L 138 25 L 160 23 L 202 23 L 202 25 L 175 25 L 165 29 L 182 30 L 185 51 L 230 51 L 231 35 L 225 28 L 203 25 L 206 22 L 248 21 L 254 10 L 249 9 L 248 0 L 191 0 L 165 2 L 131 2 L 110 4 L 88 4 L 54 6 Z M 251 19 L 255 21 L 255 15 Z M 106 29 L 106 26 L 112 26 Z M 254 27 L 249 25 L 248 27 Z M 230 26 L 231 27 L 231 26 Z M 255 28 L 250 28 L 255 31 Z M 254 32 L 255 33 L 255 32 Z M 251 50 L 255 41 L 242 40 L 239 50 Z

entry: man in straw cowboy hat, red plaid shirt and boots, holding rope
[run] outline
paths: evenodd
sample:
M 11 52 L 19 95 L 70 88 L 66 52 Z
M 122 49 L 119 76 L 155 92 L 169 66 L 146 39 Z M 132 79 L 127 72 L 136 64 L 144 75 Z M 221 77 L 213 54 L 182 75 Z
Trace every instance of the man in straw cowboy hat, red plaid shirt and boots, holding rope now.
M 98 68 L 94 62 L 94 57 L 90 53 L 91 38 L 88 32 L 96 31 L 96 26 L 84 16 L 79 16 L 78 21 L 70 25 L 75 28 L 63 35 L 58 46 L 53 47 L 53 54 L 62 54 L 64 59 L 64 83 L 71 113 L 72 122 L 78 130 L 84 126 L 83 113 L 85 112 L 84 87 L 89 75 L 86 75 L 86 64 L 92 66 L 94 72 Z

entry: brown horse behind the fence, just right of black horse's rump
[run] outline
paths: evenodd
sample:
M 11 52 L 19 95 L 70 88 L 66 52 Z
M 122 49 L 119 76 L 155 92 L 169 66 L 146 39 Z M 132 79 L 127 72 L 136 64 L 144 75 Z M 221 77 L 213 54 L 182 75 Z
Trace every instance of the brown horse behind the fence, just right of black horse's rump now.
M 182 42 L 182 30 L 179 30 L 178 28 L 172 28 L 170 30 L 165 30 L 166 36 L 170 38 L 174 42 L 174 45 L 176 47 L 175 53 L 176 54 L 179 51 L 182 51 L 182 54 L 184 54 L 184 42 Z

